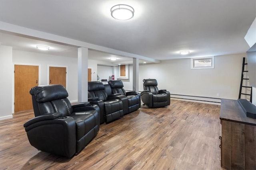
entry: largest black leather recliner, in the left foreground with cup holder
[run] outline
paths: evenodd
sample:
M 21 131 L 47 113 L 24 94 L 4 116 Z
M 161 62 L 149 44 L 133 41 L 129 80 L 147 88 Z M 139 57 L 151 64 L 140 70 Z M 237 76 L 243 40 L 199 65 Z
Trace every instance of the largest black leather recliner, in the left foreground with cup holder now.
M 24 127 L 30 144 L 36 149 L 70 158 L 98 133 L 99 107 L 89 102 L 72 106 L 64 86 L 36 86 L 30 94 L 35 117 Z

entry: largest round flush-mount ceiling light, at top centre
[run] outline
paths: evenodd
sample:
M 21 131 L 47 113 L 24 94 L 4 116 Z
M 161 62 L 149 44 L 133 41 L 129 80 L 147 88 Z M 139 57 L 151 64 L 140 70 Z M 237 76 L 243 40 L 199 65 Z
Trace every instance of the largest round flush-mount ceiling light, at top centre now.
M 110 12 L 111 16 L 116 20 L 130 20 L 134 16 L 134 9 L 125 4 L 113 6 Z

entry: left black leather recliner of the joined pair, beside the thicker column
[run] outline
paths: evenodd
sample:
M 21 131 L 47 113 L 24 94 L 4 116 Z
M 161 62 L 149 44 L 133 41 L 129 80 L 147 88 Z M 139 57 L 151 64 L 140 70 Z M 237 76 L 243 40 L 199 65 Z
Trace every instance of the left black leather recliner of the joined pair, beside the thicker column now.
M 100 107 L 100 123 L 109 123 L 124 115 L 123 103 L 114 94 L 108 96 L 102 82 L 88 82 L 88 101 Z

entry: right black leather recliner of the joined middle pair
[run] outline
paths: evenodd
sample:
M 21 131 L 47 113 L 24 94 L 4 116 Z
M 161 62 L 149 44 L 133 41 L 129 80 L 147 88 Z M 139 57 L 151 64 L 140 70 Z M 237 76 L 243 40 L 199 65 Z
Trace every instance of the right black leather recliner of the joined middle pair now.
M 128 98 L 127 113 L 140 108 L 140 94 L 134 91 L 126 92 L 122 80 L 109 80 L 108 84 L 111 86 L 112 94 L 120 93 Z

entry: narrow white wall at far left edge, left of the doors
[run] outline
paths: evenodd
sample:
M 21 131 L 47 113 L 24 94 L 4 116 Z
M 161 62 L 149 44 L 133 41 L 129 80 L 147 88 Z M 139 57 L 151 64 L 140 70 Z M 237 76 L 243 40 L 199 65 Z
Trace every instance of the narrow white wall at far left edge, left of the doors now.
M 12 118 L 12 47 L 0 45 L 0 120 Z

